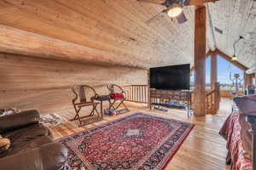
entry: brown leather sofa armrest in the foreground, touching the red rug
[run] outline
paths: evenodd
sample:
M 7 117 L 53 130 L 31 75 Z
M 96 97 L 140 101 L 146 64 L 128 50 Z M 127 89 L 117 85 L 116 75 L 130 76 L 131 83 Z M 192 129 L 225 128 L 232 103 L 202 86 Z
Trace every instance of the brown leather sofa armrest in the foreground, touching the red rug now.
M 67 169 L 67 148 L 59 143 L 44 144 L 0 159 L 0 169 L 62 170 Z

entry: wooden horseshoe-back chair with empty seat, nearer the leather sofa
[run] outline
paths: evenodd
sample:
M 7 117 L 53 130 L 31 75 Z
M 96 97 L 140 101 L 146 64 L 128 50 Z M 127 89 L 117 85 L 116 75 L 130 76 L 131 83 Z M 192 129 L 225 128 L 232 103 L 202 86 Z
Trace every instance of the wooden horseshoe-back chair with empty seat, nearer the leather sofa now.
M 73 87 L 73 94 L 75 95 L 75 98 L 72 100 L 74 110 L 76 111 L 76 115 L 73 119 L 70 121 L 79 120 L 79 127 L 83 125 L 81 119 L 89 116 L 93 116 L 95 111 L 97 114 L 97 119 L 101 120 L 101 116 L 99 112 L 96 110 L 96 106 L 99 104 L 99 102 L 95 102 L 94 99 L 98 94 L 96 94 L 96 91 L 94 88 L 91 88 L 87 85 L 79 85 Z M 92 106 L 92 110 L 90 111 L 89 116 L 79 116 L 79 111 L 82 107 L 88 107 Z

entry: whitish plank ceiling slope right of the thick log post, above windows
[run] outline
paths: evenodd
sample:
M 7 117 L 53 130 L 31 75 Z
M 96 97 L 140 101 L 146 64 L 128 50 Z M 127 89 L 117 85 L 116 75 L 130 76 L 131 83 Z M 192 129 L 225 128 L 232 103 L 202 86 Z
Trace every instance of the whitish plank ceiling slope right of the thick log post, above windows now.
M 223 34 L 214 31 L 217 48 L 232 56 L 233 43 L 243 36 L 245 39 L 236 44 L 238 61 L 247 68 L 256 66 L 256 2 L 220 0 L 208 6 L 213 27 L 223 31 Z

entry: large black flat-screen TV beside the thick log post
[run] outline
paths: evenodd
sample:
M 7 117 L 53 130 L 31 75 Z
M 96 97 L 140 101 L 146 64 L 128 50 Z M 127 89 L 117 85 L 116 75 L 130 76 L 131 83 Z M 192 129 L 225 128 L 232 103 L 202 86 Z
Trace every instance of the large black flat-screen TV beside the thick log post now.
M 190 65 L 150 68 L 150 88 L 189 90 Z

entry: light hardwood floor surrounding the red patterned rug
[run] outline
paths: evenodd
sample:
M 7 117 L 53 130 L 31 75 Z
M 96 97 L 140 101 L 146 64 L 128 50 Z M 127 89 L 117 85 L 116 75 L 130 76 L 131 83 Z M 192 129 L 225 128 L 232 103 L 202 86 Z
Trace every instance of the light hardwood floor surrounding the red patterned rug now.
M 206 117 L 190 117 L 188 118 L 185 111 L 169 110 L 148 111 L 142 108 L 130 108 L 131 111 L 119 116 L 104 116 L 102 122 L 96 122 L 84 127 L 78 127 L 78 122 L 67 122 L 57 127 L 51 128 L 55 139 L 65 137 L 67 135 L 78 133 L 89 127 L 94 127 L 104 122 L 109 122 L 121 116 L 131 115 L 134 112 L 142 111 L 154 116 L 163 116 L 172 119 L 191 122 L 195 124 L 194 130 L 189 134 L 182 147 L 172 158 L 172 161 L 166 167 L 167 170 L 224 170 L 230 169 L 225 165 L 225 149 L 224 139 L 218 135 L 218 131 L 225 118 L 231 111 L 231 100 L 222 99 L 220 110 L 216 116 Z M 74 111 L 64 111 L 60 115 L 67 119 L 72 118 Z

